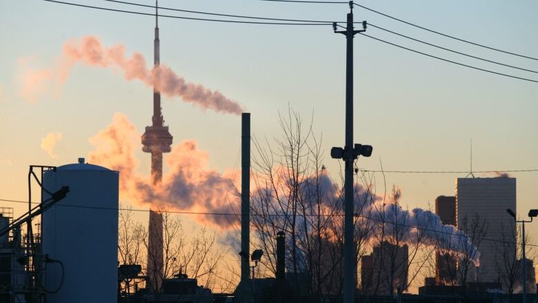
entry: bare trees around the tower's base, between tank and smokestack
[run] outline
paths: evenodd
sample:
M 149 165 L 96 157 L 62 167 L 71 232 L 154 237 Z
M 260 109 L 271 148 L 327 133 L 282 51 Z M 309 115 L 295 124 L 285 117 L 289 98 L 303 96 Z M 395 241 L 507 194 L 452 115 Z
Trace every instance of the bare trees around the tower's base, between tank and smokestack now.
M 148 271 L 144 260 L 153 261 L 157 265 L 159 249 L 148 250 L 148 228 L 140 222 L 135 222 L 130 208 L 121 208 L 119 213 L 119 258 L 124 264 L 144 264 L 143 275 L 148 272 L 159 275 L 155 280 L 165 280 L 178 273 L 197 279 L 199 285 L 213 289 L 229 290 L 232 282 L 219 269 L 226 251 L 217 247 L 215 233 L 208 233 L 206 228 L 200 228 L 197 233 L 188 237 L 183 230 L 179 217 L 172 216 L 169 211 L 161 211 L 163 233 L 163 268 L 152 268 Z M 147 259 L 146 259 L 147 257 Z M 148 285 L 147 285 L 148 286 Z M 155 300 L 159 301 L 162 285 L 152 289 L 156 293 Z

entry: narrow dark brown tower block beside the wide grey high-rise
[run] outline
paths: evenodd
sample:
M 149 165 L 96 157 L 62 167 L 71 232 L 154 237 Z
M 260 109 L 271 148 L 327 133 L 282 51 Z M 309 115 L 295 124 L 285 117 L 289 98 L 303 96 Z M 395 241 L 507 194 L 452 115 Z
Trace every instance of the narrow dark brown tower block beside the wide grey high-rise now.
M 456 197 L 439 196 L 435 199 L 435 213 L 443 224 L 456 226 Z M 435 253 L 435 283 L 452 285 L 455 282 L 456 257 L 448 253 Z

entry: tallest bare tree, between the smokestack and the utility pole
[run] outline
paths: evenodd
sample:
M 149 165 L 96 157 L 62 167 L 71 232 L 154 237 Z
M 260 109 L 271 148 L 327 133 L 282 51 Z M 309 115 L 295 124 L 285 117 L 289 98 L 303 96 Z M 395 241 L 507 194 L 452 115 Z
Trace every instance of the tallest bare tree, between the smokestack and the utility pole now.
M 276 241 L 286 233 L 288 282 L 312 302 L 340 295 L 342 287 L 343 188 L 322 164 L 321 136 L 292 109 L 279 115 L 282 135 L 270 142 L 254 140 L 252 226 L 256 248 L 267 253 L 263 266 L 276 270 Z M 364 179 L 367 180 L 367 179 Z M 363 213 L 375 194 L 372 186 L 355 186 L 355 210 Z M 365 252 L 370 224 L 355 219 L 356 260 Z

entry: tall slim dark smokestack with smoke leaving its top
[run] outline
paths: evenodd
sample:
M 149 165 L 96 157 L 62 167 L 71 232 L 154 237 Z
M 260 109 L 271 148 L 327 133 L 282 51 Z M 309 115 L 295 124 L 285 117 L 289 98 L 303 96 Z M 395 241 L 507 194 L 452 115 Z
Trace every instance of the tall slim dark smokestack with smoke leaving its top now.
M 241 114 L 241 282 L 250 277 L 250 113 Z

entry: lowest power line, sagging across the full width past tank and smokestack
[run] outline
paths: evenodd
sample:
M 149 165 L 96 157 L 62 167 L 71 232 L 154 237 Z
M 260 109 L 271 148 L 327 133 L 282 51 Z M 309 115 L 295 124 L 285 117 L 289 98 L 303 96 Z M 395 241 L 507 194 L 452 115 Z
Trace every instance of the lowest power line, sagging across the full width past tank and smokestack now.
M 15 203 L 28 203 L 26 201 L 11 200 L 11 199 L 0 199 L 0 201 L 3 201 L 3 202 L 15 202 Z M 32 204 L 39 204 L 39 202 L 32 202 Z M 143 213 L 149 213 L 150 212 L 150 210 L 137 209 L 137 208 L 116 208 L 116 207 L 102 207 L 102 206 L 65 205 L 65 204 L 55 204 L 54 206 L 69 207 L 69 208 L 97 209 L 97 210 L 103 210 L 103 211 L 134 211 L 134 212 L 143 212 Z M 197 212 L 197 211 L 163 211 L 163 213 L 173 213 L 173 214 L 179 214 L 179 215 L 241 216 L 240 214 L 237 214 L 237 213 L 211 213 L 211 212 Z M 250 216 L 251 217 L 288 217 L 289 215 L 286 215 L 286 214 L 253 214 L 253 213 L 251 213 Z M 330 215 L 321 215 L 321 214 L 320 215 L 299 215 L 299 217 L 343 217 L 343 214 L 340 214 L 340 213 L 334 214 L 333 213 L 333 214 L 330 214 Z M 459 236 L 459 235 L 456 235 L 455 233 L 449 233 L 449 232 L 446 232 L 446 231 L 437 231 L 435 229 L 421 227 L 421 226 L 411 226 L 411 225 L 403 224 L 403 223 L 399 223 L 399 222 L 390 222 L 390 221 L 386 221 L 385 219 L 377 219 L 375 217 L 370 217 L 370 216 L 367 216 L 367 215 L 361 215 L 359 213 L 355 213 L 354 217 L 362 217 L 363 219 L 370 219 L 372 221 L 380 222 L 380 223 L 383 223 L 383 224 L 394 224 L 394 225 L 397 225 L 397 226 L 403 226 L 403 227 L 408 227 L 408 228 L 417 228 L 418 230 L 421 230 L 421 231 L 431 231 L 433 233 L 440 233 L 440 234 L 444 234 L 444 235 L 454 235 L 454 236 L 457 236 L 457 237 L 468 237 L 470 239 L 477 239 L 477 240 L 490 241 L 490 242 L 499 242 L 499 243 L 504 243 L 504 244 L 518 244 L 518 245 L 521 244 L 521 243 L 517 243 L 517 242 L 506 242 L 506 241 L 497 240 L 497 239 L 490 239 L 490 238 L 486 238 L 486 237 L 472 237 L 470 235 Z M 527 246 L 537 246 L 538 247 L 538 244 L 526 244 L 526 245 Z

